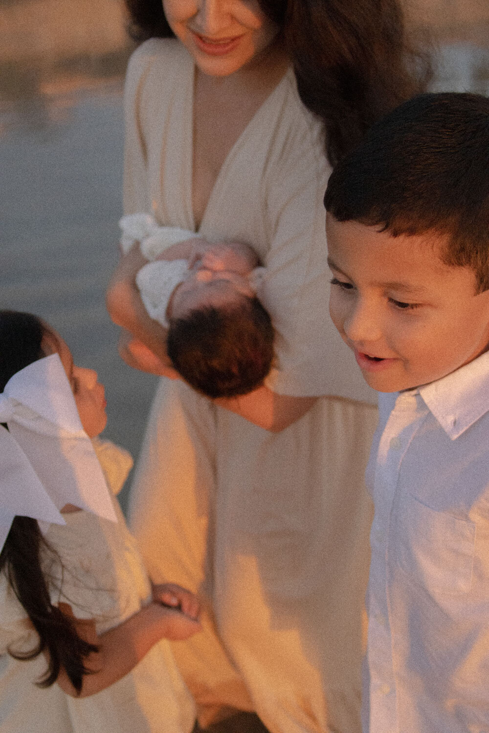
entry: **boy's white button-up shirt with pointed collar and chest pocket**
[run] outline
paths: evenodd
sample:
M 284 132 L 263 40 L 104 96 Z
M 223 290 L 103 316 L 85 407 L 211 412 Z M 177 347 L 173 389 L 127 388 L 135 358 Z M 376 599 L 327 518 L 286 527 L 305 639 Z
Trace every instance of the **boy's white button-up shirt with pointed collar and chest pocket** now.
M 364 731 L 489 732 L 489 353 L 380 394 Z

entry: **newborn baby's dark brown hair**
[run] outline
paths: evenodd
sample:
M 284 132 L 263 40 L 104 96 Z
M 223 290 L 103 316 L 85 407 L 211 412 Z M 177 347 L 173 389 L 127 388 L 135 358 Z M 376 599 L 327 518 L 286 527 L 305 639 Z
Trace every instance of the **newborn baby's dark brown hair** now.
M 256 296 L 207 306 L 169 321 L 166 350 L 183 379 L 207 397 L 237 397 L 259 387 L 273 360 L 271 318 Z

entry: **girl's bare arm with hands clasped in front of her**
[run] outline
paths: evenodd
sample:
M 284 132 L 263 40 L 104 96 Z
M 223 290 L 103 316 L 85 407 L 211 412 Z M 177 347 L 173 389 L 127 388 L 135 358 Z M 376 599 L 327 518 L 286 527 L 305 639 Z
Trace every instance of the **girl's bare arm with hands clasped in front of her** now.
M 99 647 L 98 652 L 85 660 L 92 673 L 84 675 L 80 693 L 73 688 L 64 669 L 59 673 L 57 683 L 67 695 L 77 698 L 95 695 L 125 677 L 162 638 L 180 641 L 201 630 L 197 618 L 199 603 L 193 594 L 168 584 L 155 586 L 153 598 L 155 600 L 137 614 L 100 636 L 94 620 L 75 619 L 70 605 L 59 604 L 63 613 L 75 623 L 78 635 Z M 175 608 L 161 605 L 161 600 Z

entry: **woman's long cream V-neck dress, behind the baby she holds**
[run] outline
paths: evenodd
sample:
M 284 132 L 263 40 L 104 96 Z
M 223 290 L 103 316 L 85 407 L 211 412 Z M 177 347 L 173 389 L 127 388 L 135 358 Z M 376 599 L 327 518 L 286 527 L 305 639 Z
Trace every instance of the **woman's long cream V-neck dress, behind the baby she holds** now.
M 194 64 L 177 40 L 130 61 L 125 211 L 195 230 Z M 289 70 L 229 152 L 199 229 L 251 244 L 276 328 L 281 394 L 324 396 L 273 434 L 161 380 L 132 493 L 158 581 L 207 600 L 205 632 L 174 653 L 200 720 L 255 710 L 273 733 L 360 730 L 375 397 L 328 316 L 320 122 Z

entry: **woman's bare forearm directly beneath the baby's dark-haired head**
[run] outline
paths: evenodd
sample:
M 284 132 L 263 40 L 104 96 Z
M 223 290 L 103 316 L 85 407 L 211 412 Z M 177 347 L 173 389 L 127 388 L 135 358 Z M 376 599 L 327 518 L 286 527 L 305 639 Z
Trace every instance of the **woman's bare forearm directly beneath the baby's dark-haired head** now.
M 219 397 L 213 402 L 270 432 L 281 432 L 301 419 L 319 397 L 290 397 L 261 386 L 239 397 Z

